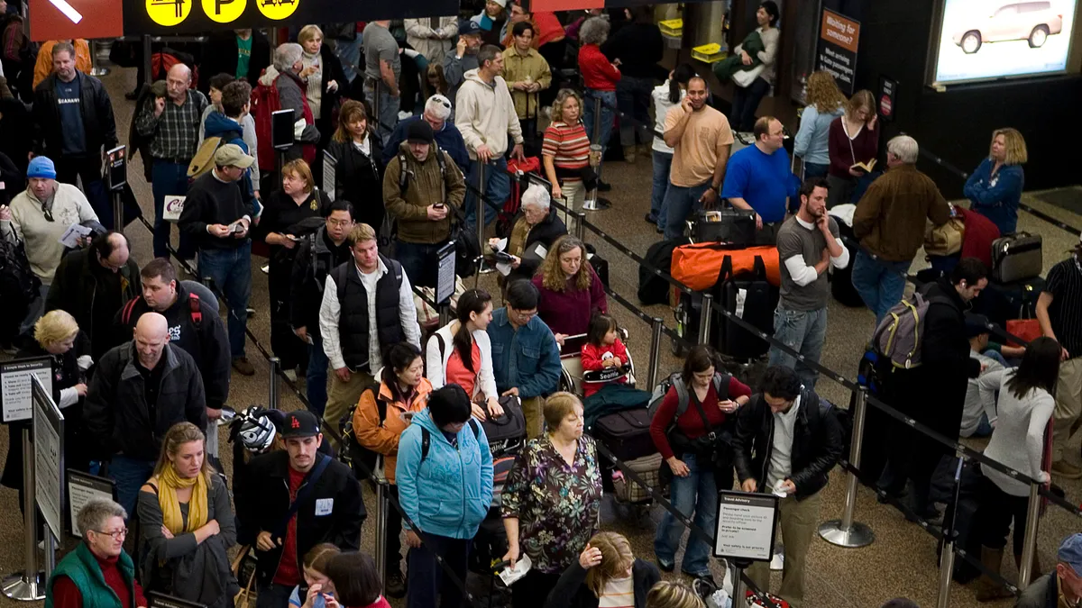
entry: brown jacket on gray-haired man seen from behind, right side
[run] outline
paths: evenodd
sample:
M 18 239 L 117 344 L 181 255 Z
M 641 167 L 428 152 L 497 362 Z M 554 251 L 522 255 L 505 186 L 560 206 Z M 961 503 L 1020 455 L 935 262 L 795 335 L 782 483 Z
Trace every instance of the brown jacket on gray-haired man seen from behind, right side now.
M 924 243 L 926 220 L 939 226 L 949 219 L 936 183 L 912 164 L 899 164 L 868 187 L 853 214 L 853 234 L 871 254 L 908 262 Z

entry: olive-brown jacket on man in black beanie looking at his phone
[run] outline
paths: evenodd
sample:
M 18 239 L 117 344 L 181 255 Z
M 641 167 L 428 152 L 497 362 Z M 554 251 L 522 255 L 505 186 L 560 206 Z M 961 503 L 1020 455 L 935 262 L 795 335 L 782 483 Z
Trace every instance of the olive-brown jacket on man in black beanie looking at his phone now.
M 431 149 L 434 151 L 435 145 Z M 461 208 L 466 185 L 454 159 L 444 150 L 439 150 L 439 154 L 444 155 L 446 175 L 440 174 L 436 155 L 430 151 L 424 162 L 418 162 L 409 151 L 409 143 L 403 142 L 398 146 L 398 154 L 391 159 L 383 172 L 383 201 L 387 213 L 398 221 L 399 240 L 436 244 L 447 240 L 451 234 L 451 217 L 454 212 L 448 210 L 447 217 L 433 222 L 428 220 L 427 207 L 444 202 Z M 407 171 L 405 198 L 399 182 L 403 158 L 406 159 Z

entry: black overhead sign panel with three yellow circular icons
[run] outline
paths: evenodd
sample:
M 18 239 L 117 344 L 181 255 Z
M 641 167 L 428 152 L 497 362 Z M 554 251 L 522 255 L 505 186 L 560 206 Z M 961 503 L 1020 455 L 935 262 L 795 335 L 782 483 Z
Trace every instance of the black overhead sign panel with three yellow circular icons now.
M 49 0 L 42 0 L 48 2 Z M 196 34 L 309 23 L 450 15 L 457 0 L 122 0 L 123 34 Z

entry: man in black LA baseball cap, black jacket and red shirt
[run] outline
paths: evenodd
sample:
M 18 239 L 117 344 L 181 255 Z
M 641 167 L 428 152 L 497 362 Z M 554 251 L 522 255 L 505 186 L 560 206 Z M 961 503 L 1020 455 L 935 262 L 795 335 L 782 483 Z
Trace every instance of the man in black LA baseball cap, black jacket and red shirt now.
M 304 582 L 301 559 L 319 543 L 342 551 L 360 546 L 367 515 L 360 486 L 349 467 L 319 451 L 324 435 L 316 414 L 290 412 L 282 424 L 286 449 L 249 464 L 250 488 L 259 501 L 239 512 L 237 539 L 255 545 L 256 608 L 285 608 Z

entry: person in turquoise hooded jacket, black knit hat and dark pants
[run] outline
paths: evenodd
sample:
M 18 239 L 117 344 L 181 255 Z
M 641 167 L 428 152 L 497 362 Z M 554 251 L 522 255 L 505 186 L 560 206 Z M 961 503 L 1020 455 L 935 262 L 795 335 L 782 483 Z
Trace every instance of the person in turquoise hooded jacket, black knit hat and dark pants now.
M 398 441 L 398 501 L 420 530 L 406 534 L 409 608 L 432 608 L 437 595 L 441 608 L 462 604 L 435 554 L 464 581 L 470 542 L 492 501 L 492 452 L 471 415 L 465 391 L 448 384 L 430 395 L 427 409 L 413 415 Z

